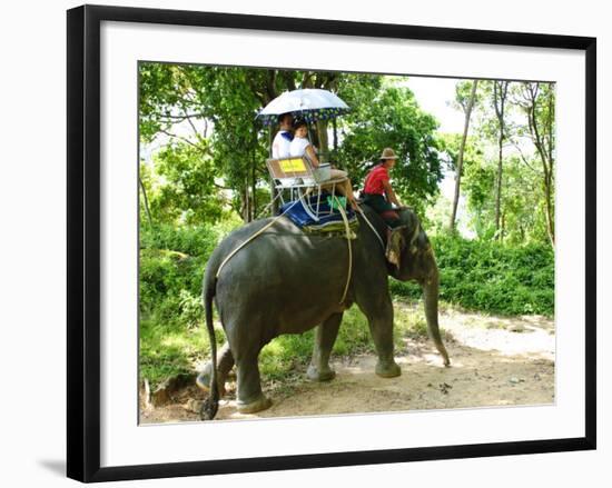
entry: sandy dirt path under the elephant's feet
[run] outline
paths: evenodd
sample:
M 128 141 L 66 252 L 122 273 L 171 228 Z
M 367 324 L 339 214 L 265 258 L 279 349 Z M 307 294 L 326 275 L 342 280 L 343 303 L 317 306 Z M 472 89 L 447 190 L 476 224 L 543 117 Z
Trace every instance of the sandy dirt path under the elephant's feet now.
M 402 305 L 402 307 L 407 307 Z M 273 407 L 255 415 L 236 410 L 235 387 L 219 405 L 218 419 L 295 417 L 348 412 L 535 405 L 554 401 L 554 322 L 539 316 L 502 318 L 441 311 L 447 332 L 452 367 L 444 368 L 428 340 L 405 340 L 397 356 L 402 376 L 383 379 L 374 374 L 371 355 L 337 360 L 337 375 L 325 384 L 304 375 L 279 385 L 268 384 Z M 141 405 L 141 422 L 198 420 L 203 394 L 194 386 L 154 408 Z

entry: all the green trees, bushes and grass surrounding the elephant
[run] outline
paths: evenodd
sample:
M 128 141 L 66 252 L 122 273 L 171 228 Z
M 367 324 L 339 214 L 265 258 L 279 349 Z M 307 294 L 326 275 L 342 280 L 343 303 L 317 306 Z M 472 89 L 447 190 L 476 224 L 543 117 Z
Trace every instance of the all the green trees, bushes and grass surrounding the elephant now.
M 352 108 L 312 135 L 355 189 L 385 147 L 399 199 L 421 217 L 441 269 L 441 300 L 504 315 L 554 312 L 554 84 L 456 80 L 448 100 L 464 117 L 444 133 L 405 77 L 141 62 L 140 367 L 154 385 L 208 353 L 201 278 L 231 229 L 273 208 L 265 165 L 270 131 L 257 112 L 283 91 L 323 88 Z M 457 178 L 458 176 L 458 178 Z M 444 178 L 452 195 L 441 191 Z M 447 180 L 448 181 L 448 180 Z M 397 299 L 416 286 L 389 279 Z M 398 313 L 397 333 L 425 333 Z M 349 310 L 337 353 L 372 350 Z M 223 341 L 223 331 L 218 331 Z M 264 374 L 308 359 L 312 333 L 275 339 Z

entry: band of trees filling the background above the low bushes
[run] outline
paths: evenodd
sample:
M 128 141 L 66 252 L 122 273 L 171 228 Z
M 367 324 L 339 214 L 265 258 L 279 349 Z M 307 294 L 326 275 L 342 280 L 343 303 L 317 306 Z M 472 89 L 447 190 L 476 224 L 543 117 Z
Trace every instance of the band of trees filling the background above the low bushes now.
M 141 62 L 139 79 L 140 140 L 152 155 L 141 163 L 141 201 L 152 221 L 257 218 L 273 197 L 265 161 L 276 128 L 256 114 L 284 91 L 323 88 L 352 110 L 310 136 L 354 188 L 391 147 L 399 157 L 394 189 L 423 217 L 450 221 L 461 200 L 463 227 L 478 238 L 554 245 L 552 83 L 457 80 L 450 102 L 466 118 L 462 138 L 440 131 L 405 77 Z M 440 185 L 457 170 L 448 209 Z

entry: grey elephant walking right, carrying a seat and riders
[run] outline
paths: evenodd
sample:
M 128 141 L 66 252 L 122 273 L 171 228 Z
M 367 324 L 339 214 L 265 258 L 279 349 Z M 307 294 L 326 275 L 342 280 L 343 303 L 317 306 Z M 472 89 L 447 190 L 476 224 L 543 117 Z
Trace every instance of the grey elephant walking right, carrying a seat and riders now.
M 356 238 L 349 240 L 352 271 L 344 300 L 349 271 L 346 237 L 307 233 L 282 217 L 233 256 L 229 255 L 270 220 L 253 221 L 217 246 L 203 283 L 211 348 L 211 362 L 197 379 L 200 387 L 209 390 L 200 411 L 203 419 L 213 419 L 217 414 L 225 378 L 234 363 L 238 411 L 251 414 L 270 407 L 272 401 L 261 391 L 258 356 L 266 343 L 283 333 L 302 333 L 316 327 L 307 377 L 318 381 L 333 379 L 329 355 L 343 312 L 353 303 L 368 320 L 378 356 L 375 372 L 383 378 L 399 376 L 394 359 L 388 276 L 421 285 L 430 337 L 444 365 L 450 366 L 438 328 L 438 269 L 418 218 L 412 210 L 402 209 L 401 226 L 388 231 L 382 217 L 369 207 L 362 206 L 362 212 L 357 213 Z M 227 339 L 218 362 L 213 302 Z

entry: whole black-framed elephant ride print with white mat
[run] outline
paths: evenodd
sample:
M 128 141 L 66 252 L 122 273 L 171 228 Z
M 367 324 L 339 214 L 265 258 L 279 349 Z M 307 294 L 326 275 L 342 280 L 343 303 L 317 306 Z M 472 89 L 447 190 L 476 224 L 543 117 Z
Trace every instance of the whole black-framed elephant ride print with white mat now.
M 595 448 L 595 39 L 68 11 L 68 476 Z

